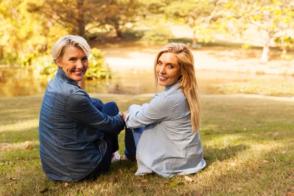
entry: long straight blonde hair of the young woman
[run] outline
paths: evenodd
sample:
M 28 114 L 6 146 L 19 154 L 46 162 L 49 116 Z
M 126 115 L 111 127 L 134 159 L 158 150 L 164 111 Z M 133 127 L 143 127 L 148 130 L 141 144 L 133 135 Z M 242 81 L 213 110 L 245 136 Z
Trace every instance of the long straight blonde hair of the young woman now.
M 158 76 L 155 70 L 159 57 L 163 53 L 173 53 L 180 66 L 182 77 L 180 78 L 177 86 L 182 89 L 185 97 L 187 98 L 190 113 L 192 132 L 198 132 L 201 124 L 201 107 L 199 103 L 199 89 L 196 81 L 194 58 L 191 50 L 185 45 L 180 43 L 171 43 L 160 49 L 154 61 L 154 75 L 155 85 L 158 86 Z

